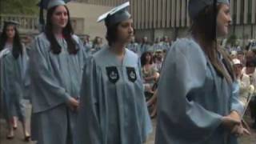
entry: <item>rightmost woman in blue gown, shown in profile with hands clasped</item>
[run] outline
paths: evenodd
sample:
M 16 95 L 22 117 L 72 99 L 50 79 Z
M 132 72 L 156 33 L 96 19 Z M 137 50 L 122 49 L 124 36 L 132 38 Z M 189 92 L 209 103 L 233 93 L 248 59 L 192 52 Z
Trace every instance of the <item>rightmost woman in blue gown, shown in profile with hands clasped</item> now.
M 162 67 L 155 143 L 235 144 L 248 131 L 230 59 L 216 41 L 228 33 L 229 2 L 192 0 L 189 14 L 190 37 L 174 42 Z

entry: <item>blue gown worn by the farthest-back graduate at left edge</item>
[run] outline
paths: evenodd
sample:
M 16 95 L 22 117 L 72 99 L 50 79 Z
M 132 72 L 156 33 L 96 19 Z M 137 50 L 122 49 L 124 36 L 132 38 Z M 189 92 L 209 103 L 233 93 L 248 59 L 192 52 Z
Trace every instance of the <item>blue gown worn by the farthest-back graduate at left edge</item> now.
M 12 48 L 5 49 L 1 62 L 3 102 L 5 102 L 3 106 L 6 112 L 6 120 L 10 121 L 13 116 L 18 116 L 19 120 L 24 122 L 26 120 L 26 107 L 23 97 L 28 57 L 25 46 L 23 46 L 23 53 L 17 59 L 14 58 L 11 50 Z

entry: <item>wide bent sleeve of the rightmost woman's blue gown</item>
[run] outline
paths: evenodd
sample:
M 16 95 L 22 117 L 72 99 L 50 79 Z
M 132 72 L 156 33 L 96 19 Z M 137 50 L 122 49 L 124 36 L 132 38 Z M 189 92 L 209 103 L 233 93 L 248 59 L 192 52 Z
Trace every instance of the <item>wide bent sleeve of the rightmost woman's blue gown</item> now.
M 194 96 L 206 97 L 198 95 L 205 83 L 207 65 L 199 49 L 194 43 L 180 40 L 166 56 L 158 86 L 159 135 L 169 134 L 172 139 L 198 142 L 208 138 L 222 122 L 222 115 L 206 110 L 193 100 Z M 159 143 L 161 137 L 157 136 Z

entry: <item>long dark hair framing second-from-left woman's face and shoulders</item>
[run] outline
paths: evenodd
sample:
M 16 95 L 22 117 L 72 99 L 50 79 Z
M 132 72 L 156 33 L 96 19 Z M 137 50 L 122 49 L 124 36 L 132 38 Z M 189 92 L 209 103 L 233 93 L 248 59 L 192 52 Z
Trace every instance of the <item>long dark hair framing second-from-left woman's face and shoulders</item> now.
M 54 10 L 56 10 L 57 7 L 58 6 L 54 6 L 47 11 L 46 30 L 45 30 L 46 38 L 50 42 L 50 50 L 54 54 L 59 54 L 62 51 L 62 47 L 58 44 L 56 38 L 54 37 L 53 25 L 51 22 L 51 17 L 54 14 Z M 72 38 L 72 34 L 74 34 L 74 31 L 72 29 L 71 22 L 70 22 L 70 11 L 67 9 L 66 6 L 64 7 L 66 8 L 66 11 L 67 11 L 68 22 L 66 24 L 66 27 L 62 30 L 62 34 L 66 40 L 68 52 L 70 54 L 77 54 L 79 49 L 76 48 L 76 44 L 75 44 L 76 42 L 74 41 L 74 38 Z

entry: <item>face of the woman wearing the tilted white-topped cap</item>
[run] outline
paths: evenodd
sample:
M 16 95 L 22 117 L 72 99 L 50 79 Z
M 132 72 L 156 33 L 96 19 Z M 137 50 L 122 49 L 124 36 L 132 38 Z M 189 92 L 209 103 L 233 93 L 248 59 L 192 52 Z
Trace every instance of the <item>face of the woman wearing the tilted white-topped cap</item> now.
M 118 41 L 128 43 L 134 36 L 133 20 L 128 19 L 118 25 Z

